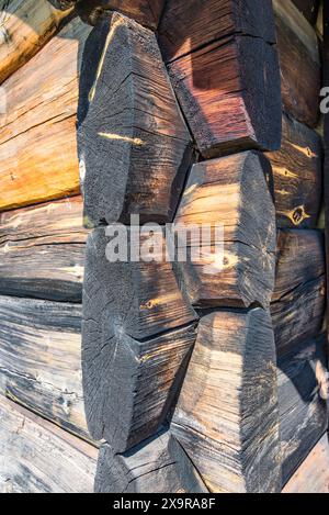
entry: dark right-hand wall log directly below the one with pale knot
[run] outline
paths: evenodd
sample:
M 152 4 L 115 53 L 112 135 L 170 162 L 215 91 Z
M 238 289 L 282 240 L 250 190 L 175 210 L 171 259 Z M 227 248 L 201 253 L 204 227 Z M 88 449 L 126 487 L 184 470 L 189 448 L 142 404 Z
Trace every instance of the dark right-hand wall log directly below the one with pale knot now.
M 281 231 L 271 314 L 279 355 L 321 331 L 326 277 L 322 235 L 317 231 Z

